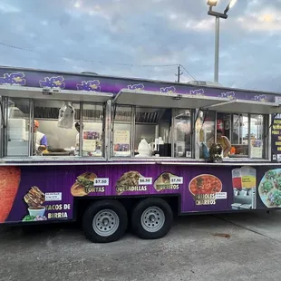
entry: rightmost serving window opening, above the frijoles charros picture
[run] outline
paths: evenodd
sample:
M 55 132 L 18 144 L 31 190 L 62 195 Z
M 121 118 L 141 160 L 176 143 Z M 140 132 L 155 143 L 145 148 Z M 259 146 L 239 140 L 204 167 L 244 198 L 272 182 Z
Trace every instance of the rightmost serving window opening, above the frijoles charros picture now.
M 229 159 L 265 159 L 266 124 L 267 115 L 208 111 L 199 131 L 200 157 L 204 144 L 209 148 L 217 142 Z

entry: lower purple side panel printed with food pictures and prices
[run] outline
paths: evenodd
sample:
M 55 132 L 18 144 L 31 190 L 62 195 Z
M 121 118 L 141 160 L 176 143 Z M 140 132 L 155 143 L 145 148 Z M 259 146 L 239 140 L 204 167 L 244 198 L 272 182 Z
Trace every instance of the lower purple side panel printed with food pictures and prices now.
M 181 211 L 183 213 L 231 210 L 236 209 L 237 206 L 242 206 L 243 208 L 280 207 L 281 201 L 272 201 L 272 196 L 278 196 L 280 193 L 281 197 L 280 167 L 254 167 L 256 169 L 256 176 L 250 179 L 249 174 L 244 173 L 244 185 L 240 177 L 240 186 L 239 184 L 237 186 L 237 183 L 233 183 L 232 180 L 232 170 L 240 169 L 241 167 L 177 167 L 169 165 L 89 167 L 86 165 L 73 165 L 46 166 L 38 169 L 38 167 L 28 166 L 21 168 L 18 188 L 15 186 L 16 181 L 14 180 L 19 175 L 18 169 L 14 167 L 0 167 L 0 195 L 2 197 L 0 201 L 0 222 L 15 222 L 22 221 L 23 218 L 26 219 L 30 212 L 26 200 L 24 201 L 26 194 L 33 199 L 31 201 L 27 199 L 29 206 L 31 206 L 30 202 L 32 202 L 36 203 L 32 206 L 44 206 L 46 208 L 44 216 L 48 220 L 73 218 L 73 195 L 94 198 L 114 196 L 118 198 L 121 196 L 179 194 L 181 195 Z M 268 170 L 271 170 L 270 173 L 267 172 Z M 82 178 L 78 178 L 81 175 Z M 139 178 L 143 181 L 138 181 Z M 151 181 L 150 178 L 152 178 Z M 195 182 L 193 181 L 195 178 L 198 183 L 196 190 L 199 190 L 199 193 L 201 193 L 197 198 L 195 198 L 197 191 L 192 189 L 192 182 Z M 269 178 L 272 182 L 272 190 L 264 189 L 265 182 Z M 87 181 L 77 182 L 76 179 L 92 179 L 94 185 L 89 186 Z M 213 179 L 217 181 L 212 185 Z M 220 183 L 218 184 L 218 182 Z M 251 182 L 252 185 L 250 184 Z M 190 189 L 189 185 L 191 186 Z M 34 197 L 30 193 L 33 187 L 37 187 L 44 192 L 45 198 L 43 201 L 40 201 L 38 194 Z M 17 189 L 17 193 L 11 192 L 12 189 Z M 193 192 L 193 195 L 190 190 Z M 271 201 L 267 198 L 269 195 L 271 196 Z M 7 213 L 9 205 L 12 206 L 12 209 L 8 210 L 9 215 L 4 218 L 3 214 Z M 30 219 L 30 217 L 27 216 L 27 219 Z

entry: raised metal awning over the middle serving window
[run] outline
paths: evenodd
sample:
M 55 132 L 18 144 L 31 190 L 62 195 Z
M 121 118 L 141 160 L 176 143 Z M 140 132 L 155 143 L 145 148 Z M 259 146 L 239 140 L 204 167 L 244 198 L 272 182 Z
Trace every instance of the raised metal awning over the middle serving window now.
M 209 105 L 229 102 L 227 98 L 201 95 L 179 94 L 174 92 L 151 92 L 140 90 L 121 90 L 113 102 L 122 105 L 153 106 L 164 108 L 197 109 Z

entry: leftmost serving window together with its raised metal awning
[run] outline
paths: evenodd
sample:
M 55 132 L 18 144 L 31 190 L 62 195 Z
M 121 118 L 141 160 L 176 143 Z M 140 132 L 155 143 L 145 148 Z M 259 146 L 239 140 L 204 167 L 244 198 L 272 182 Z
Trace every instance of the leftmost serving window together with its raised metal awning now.
M 0 95 L 5 125 L 1 156 L 105 156 L 104 109 L 112 93 L 0 85 Z

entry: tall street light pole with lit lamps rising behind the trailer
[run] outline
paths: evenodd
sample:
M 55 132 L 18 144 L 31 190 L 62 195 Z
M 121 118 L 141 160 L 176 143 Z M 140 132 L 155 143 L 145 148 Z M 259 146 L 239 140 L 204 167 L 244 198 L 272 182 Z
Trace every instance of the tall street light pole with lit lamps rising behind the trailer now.
M 218 4 L 218 0 L 208 0 L 207 4 L 209 5 L 208 15 L 216 17 L 216 26 L 215 26 L 215 66 L 214 66 L 214 81 L 218 82 L 218 61 L 219 61 L 219 20 L 220 18 L 227 19 L 228 11 L 237 0 L 230 0 L 228 6 L 226 7 L 224 13 L 218 13 L 213 11 L 213 6 Z

